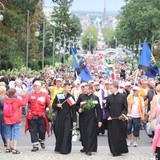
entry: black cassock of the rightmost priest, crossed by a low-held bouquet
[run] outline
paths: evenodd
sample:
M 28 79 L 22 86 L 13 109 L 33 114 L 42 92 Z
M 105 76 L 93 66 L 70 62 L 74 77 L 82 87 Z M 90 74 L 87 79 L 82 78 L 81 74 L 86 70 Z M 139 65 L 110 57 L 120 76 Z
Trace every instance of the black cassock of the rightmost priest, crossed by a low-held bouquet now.
M 127 114 L 127 98 L 121 93 L 112 94 L 106 98 L 107 117 L 115 118 Z M 113 155 L 128 153 L 126 142 L 127 123 L 119 119 L 108 121 L 108 142 Z

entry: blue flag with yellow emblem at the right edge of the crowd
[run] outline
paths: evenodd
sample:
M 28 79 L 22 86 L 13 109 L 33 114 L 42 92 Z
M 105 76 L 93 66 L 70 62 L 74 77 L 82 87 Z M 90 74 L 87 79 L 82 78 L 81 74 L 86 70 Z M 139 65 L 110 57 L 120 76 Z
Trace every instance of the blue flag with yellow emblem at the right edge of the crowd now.
M 148 77 L 155 77 L 159 75 L 158 66 L 146 41 L 143 43 L 138 68 L 145 70 Z

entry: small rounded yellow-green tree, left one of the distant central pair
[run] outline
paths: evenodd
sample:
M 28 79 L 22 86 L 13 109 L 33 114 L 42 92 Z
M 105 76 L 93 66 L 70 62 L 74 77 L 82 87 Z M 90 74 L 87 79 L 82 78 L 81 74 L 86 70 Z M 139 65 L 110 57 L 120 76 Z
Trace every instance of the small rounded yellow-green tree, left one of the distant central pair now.
M 87 51 L 93 52 L 93 49 L 96 48 L 97 44 L 97 38 L 98 38 L 98 31 L 96 27 L 90 27 L 88 28 L 83 36 L 82 36 L 82 48 Z

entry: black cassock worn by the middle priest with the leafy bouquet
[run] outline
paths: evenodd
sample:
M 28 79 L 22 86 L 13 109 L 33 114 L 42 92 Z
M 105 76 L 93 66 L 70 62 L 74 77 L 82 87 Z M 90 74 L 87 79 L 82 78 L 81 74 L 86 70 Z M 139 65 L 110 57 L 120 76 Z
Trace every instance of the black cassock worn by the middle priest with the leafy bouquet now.
M 89 99 L 96 100 L 98 104 L 80 113 L 81 140 L 85 152 L 97 152 L 98 122 L 102 122 L 99 98 L 94 94 L 81 94 L 77 100 L 77 106 L 80 108 L 80 103 Z

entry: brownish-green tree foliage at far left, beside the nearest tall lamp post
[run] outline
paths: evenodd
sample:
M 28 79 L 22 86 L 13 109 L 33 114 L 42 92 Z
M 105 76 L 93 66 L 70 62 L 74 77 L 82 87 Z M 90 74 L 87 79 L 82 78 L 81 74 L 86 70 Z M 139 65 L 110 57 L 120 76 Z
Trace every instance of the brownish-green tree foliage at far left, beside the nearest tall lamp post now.
M 5 6 L 0 22 L 0 69 L 21 68 L 25 65 L 26 17 L 35 13 L 39 0 L 1 0 Z

